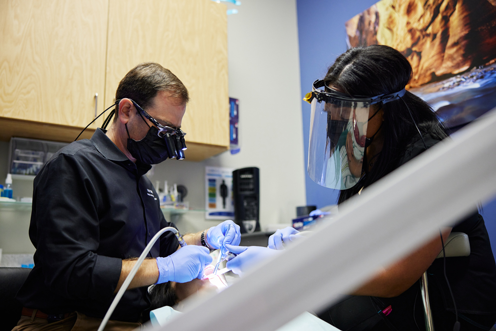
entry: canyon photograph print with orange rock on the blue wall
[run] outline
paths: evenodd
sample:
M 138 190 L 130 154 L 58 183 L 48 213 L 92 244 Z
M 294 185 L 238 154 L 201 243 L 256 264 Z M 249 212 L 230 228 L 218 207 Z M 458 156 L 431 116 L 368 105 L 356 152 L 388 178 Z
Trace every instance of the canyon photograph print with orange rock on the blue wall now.
M 381 0 L 345 27 L 348 47 L 400 51 L 450 132 L 496 107 L 496 0 Z

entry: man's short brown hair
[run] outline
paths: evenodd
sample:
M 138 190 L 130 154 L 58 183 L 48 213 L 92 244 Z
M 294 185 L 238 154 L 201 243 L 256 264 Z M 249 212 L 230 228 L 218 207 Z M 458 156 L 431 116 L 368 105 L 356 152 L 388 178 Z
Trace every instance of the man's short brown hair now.
M 178 99 L 179 104 L 189 101 L 183 82 L 171 70 L 155 62 L 141 63 L 129 70 L 117 87 L 116 100 L 129 98 L 145 109 L 152 104 L 159 91 L 169 92 L 172 98 Z M 114 121 L 118 114 L 117 105 Z

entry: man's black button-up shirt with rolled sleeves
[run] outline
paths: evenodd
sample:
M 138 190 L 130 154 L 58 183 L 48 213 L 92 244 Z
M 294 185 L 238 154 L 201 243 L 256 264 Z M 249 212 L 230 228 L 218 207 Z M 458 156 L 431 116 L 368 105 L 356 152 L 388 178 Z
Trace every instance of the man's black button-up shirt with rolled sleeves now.
M 150 168 L 129 161 L 101 129 L 47 162 L 34 180 L 29 237 L 35 266 L 17 293 L 24 307 L 104 317 L 122 260 L 139 257 L 161 228 L 175 226 L 143 176 Z M 171 255 L 178 246 L 167 231 L 148 257 Z M 146 286 L 127 290 L 111 319 L 136 322 L 149 304 Z

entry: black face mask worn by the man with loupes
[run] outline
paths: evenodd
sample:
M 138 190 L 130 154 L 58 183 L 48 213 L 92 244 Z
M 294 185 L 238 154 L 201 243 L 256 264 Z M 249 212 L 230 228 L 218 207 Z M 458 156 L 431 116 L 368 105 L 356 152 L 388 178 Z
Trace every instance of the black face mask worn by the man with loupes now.
M 127 124 L 125 127 L 127 131 Z M 158 136 L 158 130 L 151 127 L 143 139 L 134 140 L 129 137 L 127 131 L 127 150 L 132 157 L 144 164 L 158 164 L 165 161 L 168 157 L 167 146 L 164 138 Z

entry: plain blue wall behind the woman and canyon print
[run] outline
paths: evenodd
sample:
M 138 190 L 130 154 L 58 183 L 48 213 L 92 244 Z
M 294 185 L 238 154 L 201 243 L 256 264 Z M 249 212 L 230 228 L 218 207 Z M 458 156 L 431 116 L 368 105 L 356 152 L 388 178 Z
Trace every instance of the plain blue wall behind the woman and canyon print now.
M 301 97 L 311 91 L 311 83 L 322 78 L 327 67 L 337 56 L 346 51 L 344 23 L 369 8 L 377 0 L 297 0 L 298 36 L 300 43 Z M 303 143 L 307 169 L 310 135 L 310 105 L 302 101 Z M 324 188 L 313 182 L 307 171 L 307 205 L 318 208 L 337 201 L 338 191 Z M 483 205 L 491 243 L 496 252 L 496 199 Z

